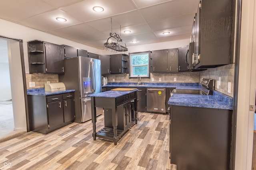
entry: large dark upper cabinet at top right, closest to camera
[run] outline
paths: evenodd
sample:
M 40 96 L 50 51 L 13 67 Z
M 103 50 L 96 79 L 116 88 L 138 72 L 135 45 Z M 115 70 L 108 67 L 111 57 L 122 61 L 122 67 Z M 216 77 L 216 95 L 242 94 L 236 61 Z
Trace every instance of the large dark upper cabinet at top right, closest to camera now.
M 233 63 L 234 27 L 234 0 L 200 0 L 191 35 L 194 68 Z

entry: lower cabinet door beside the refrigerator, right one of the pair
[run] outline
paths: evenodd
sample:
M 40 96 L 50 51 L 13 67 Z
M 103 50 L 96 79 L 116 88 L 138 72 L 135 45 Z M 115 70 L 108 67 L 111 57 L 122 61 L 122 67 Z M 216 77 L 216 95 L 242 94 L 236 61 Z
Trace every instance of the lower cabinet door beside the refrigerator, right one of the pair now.
M 73 121 L 75 119 L 75 102 L 74 98 L 63 100 L 64 122 Z

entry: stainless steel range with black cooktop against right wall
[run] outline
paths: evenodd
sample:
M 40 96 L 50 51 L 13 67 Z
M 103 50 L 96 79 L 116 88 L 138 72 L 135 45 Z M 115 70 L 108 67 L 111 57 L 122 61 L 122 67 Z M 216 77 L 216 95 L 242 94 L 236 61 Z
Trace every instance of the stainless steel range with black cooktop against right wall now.
M 214 80 L 203 78 L 200 82 L 202 84 L 201 90 L 183 90 L 183 89 L 174 89 L 172 94 L 201 94 L 201 95 L 212 95 L 214 90 Z

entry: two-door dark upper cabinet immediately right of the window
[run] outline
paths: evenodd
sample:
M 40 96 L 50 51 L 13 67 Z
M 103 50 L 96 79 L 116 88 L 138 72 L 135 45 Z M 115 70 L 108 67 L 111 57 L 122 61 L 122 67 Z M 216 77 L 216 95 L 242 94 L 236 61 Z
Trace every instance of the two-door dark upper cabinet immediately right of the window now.
M 151 72 L 178 72 L 178 49 L 152 51 Z

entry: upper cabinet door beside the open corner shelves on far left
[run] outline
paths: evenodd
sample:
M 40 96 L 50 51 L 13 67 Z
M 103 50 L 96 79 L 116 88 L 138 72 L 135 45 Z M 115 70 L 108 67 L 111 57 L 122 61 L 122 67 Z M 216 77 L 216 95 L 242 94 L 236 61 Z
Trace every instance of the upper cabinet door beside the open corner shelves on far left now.
M 64 53 L 61 45 L 44 42 L 47 73 L 64 73 Z

